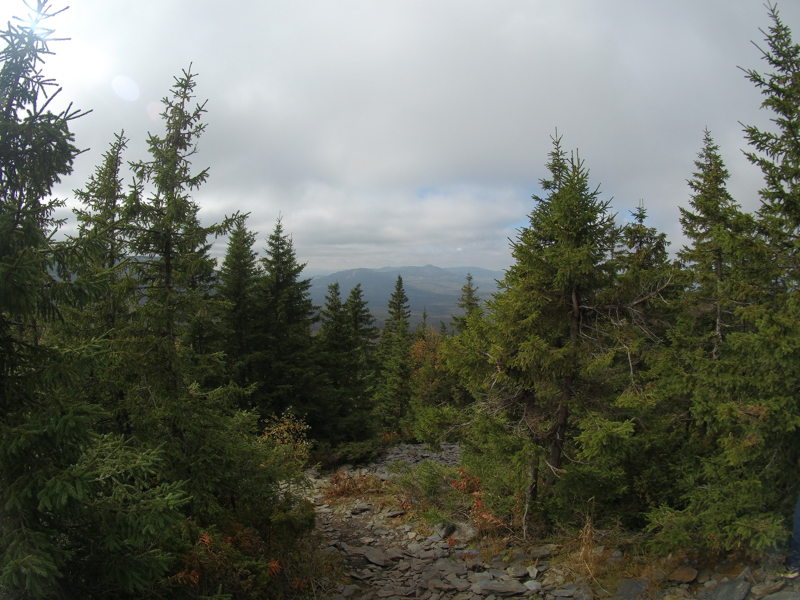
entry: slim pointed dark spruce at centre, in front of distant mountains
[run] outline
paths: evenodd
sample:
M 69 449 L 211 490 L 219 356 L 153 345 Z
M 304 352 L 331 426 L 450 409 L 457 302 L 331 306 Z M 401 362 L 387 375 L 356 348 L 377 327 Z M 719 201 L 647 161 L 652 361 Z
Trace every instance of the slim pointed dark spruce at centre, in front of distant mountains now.
M 389 318 L 383 324 L 378 342 L 378 378 L 374 402 L 382 426 L 389 431 L 398 431 L 407 425 L 411 394 L 408 356 L 411 311 L 401 275 L 398 275 L 394 292 L 389 298 L 388 312 Z

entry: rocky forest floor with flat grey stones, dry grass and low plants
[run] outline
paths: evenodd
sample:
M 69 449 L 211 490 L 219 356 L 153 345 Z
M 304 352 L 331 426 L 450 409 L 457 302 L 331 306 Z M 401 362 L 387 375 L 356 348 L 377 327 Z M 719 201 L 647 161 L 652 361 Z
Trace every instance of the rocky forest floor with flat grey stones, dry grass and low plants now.
M 458 466 L 459 458 L 457 444 L 442 444 L 439 452 L 401 444 L 367 465 L 306 471 L 322 551 L 341 566 L 325 582 L 328 600 L 800 600 L 800 578 L 774 560 L 656 560 L 602 538 L 590 538 L 588 546 L 585 537 L 538 546 L 479 538 L 465 523 L 431 529 L 414 506 L 386 493 L 398 462 Z

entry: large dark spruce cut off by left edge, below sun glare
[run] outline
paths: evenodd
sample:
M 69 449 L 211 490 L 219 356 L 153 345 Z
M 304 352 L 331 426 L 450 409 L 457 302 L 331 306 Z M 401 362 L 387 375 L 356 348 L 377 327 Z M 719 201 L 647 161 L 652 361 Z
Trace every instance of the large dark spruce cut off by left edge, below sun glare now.
M 102 298 L 81 268 L 110 258 L 98 243 L 55 243 L 61 203 L 47 200 L 78 154 L 70 122 L 50 110 L 42 60 L 46 2 L 0 38 L 0 595 L 112 598 L 141 590 L 168 561 L 155 532 L 178 514 L 174 486 L 153 484 L 158 455 L 98 431 L 107 414 L 76 393 L 97 344 L 70 347 L 50 326 L 60 306 Z

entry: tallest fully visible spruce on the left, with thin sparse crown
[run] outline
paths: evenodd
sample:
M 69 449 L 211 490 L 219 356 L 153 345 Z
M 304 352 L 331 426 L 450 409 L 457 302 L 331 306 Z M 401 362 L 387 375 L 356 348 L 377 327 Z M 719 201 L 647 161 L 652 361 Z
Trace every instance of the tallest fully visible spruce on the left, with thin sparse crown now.
M 133 164 L 137 179 L 123 215 L 135 287 L 109 376 L 126 382 L 120 402 L 133 439 L 162 449 L 159 480 L 179 484 L 184 514 L 206 527 L 269 506 L 277 474 L 267 466 L 269 447 L 254 438 L 256 416 L 237 408 L 245 392 L 215 383 L 225 372 L 222 354 L 195 335 L 198 319 L 222 308 L 209 290 L 208 238 L 235 220 L 202 226 L 190 195 L 208 173 L 193 174 L 190 165 L 205 128 L 203 106 L 192 106 L 195 85 L 190 71 L 175 78 L 163 100 L 166 131 L 150 134 L 150 160 Z

